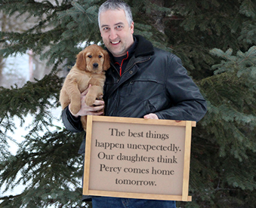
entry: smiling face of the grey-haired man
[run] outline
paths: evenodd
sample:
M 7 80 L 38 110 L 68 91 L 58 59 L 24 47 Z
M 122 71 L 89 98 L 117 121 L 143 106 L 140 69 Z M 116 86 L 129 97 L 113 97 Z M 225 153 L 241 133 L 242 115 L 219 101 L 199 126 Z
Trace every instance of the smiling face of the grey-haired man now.
M 134 23 L 128 25 L 123 10 L 109 10 L 100 14 L 100 33 L 103 43 L 114 57 L 122 57 L 134 43 Z

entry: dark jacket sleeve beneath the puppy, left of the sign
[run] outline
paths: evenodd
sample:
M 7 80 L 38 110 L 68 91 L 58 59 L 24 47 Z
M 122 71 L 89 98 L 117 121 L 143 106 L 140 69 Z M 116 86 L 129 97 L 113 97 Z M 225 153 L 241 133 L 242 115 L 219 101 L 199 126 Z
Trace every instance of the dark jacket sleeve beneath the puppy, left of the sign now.
M 63 124 L 67 130 L 74 133 L 78 133 L 83 130 L 80 116 L 79 118 L 73 117 L 72 114 L 69 112 L 68 106 L 65 109 L 63 109 L 61 117 Z

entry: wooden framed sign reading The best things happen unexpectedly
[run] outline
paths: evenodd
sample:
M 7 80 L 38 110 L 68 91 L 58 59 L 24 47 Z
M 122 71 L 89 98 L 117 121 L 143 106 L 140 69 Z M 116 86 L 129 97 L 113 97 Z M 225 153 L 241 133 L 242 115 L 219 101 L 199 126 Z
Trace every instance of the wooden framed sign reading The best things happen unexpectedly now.
M 88 116 L 84 195 L 191 201 L 196 121 Z

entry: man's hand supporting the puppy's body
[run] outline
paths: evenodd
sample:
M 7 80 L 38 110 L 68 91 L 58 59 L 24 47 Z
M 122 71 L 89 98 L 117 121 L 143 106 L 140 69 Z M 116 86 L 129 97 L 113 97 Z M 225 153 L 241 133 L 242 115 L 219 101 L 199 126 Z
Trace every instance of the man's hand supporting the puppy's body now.
M 79 110 L 79 112 L 76 115 L 72 114 L 71 112 L 71 114 L 76 118 L 79 117 L 79 115 L 83 116 L 83 115 L 102 115 L 103 114 L 103 111 L 101 111 L 104 108 L 103 100 L 95 100 L 94 105 L 92 106 L 87 106 L 85 104 L 85 96 L 88 93 L 90 87 L 91 87 L 91 84 L 84 92 L 81 93 L 81 109 Z

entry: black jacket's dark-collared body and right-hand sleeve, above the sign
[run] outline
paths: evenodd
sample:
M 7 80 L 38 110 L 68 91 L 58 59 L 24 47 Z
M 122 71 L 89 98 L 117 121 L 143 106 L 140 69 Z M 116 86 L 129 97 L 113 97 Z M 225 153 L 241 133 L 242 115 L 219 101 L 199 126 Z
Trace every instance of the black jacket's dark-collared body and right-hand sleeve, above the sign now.
M 105 114 L 143 118 L 156 113 L 160 119 L 199 121 L 206 102 L 180 59 L 135 37 L 137 47 L 122 76 L 113 64 L 106 71 Z

